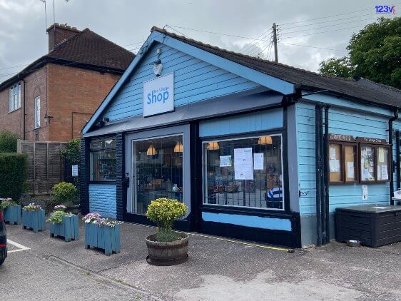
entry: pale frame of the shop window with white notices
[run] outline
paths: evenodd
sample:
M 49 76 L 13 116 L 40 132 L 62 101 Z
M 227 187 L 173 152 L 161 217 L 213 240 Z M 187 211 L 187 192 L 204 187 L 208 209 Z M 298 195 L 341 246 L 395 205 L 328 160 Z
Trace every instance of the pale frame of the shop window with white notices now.
M 280 208 L 264 208 L 264 207 L 250 207 L 250 206 L 238 206 L 238 205 L 223 205 L 223 204 L 209 204 L 205 202 L 205 198 L 206 198 L 206 194 L 207 194 L 207 189 L 206 189 L 206 185 L 205 185 L 205 173 L 206 173 L 206 169 L 205 169 L 205 162 L 206 162 L 206 158 L 205 158 L 205 146 L 210 143 L 210 142 L 223 142 L 223 141 L 235 141 L 235 140 L 243 140 L 243 139 L 250 139 L 250 138 L 260 138 L 261 136 L 280 136 L 280 141 L 281 141 L 281 173 L 283 175 L 283 181 L 282 181 L 282 188 L 283 188 L 283 209 Z M 202 191 L 203 191 L 203 200 L 202 200 L 202 204 L 203 205 L 213 205 L 213 206 L 218 206 L 218 207 L 223 207 L 223 208 L 227 208 L 227 207 L 235 207 L 235 208 L 243 208 L 244 210 L 246 209 L 258 209 L 258 210 L 274 210 L 274 211 L 285 211 L 285 185 L 287 185 L 287 183 L 285 183 L 285 178 L 284 178 L 284 162 L 283 162 L 283 134 L 282 133 L 265 133 L 265 134 L 260 134 L 260 135 L 250 135 L 250 136 L 246 136 L 246 137 L 238 137 L 238 138 L 206 138 L 206 140 L 202 141 Z

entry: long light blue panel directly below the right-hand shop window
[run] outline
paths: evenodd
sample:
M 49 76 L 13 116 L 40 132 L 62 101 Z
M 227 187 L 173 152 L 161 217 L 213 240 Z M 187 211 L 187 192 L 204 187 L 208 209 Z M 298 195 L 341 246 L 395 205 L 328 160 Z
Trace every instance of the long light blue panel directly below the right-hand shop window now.
M 251 215 L 233 215 L 226 213 L 202 213 L 205 222 L 225 223 L 230 225 L 242 225 L 251 228 L 269 230 L 291 231 L 291 221 L 283 218 L 262 218 Z

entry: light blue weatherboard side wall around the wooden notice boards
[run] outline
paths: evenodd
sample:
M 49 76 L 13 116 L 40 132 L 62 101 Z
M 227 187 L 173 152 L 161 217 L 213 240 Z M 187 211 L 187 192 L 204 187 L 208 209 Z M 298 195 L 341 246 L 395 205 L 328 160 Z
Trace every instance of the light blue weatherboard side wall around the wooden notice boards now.
M 325 101 L 327 98 L 320 98 Z M 335 99 L 335 98 L 334 98 Z M 358 105 L 359 106 L 359 105 Z M 361 107 L 362 108 L 362 107 Z M 347 108 L 330 108 L 329 132 L 355 137 L 381 138 L 388 141 L 388 119 L 390 116 L 375 114 L 376 108 L 357 112 Z M 381 110 L 377 108 L 377 111 Z M 382 113 L 382 112 L 380 112 Z M 303 195 L 300 197 L 300 214 L 316 213 L 315 185 L 315 105 L 300 101 L 296 104 L 298 178 Z M 305 195 L 306 194 L 306 195 Z M 362 185 L 330 185 L 330 213 L 337 207 L 367 203 L 390 202 L 389 183 L 368 184 L 368 199 L 362 200 Z

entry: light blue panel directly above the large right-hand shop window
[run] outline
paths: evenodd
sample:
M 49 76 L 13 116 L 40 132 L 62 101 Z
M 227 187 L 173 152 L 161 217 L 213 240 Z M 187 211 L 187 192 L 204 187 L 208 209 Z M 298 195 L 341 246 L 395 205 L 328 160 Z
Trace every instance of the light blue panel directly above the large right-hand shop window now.
M 281 127 L 283 127 L 283 108 L 275 108 L 258 113 L 201 121 L 199 123 L 199 136 L 207 137 L 268 131 Z

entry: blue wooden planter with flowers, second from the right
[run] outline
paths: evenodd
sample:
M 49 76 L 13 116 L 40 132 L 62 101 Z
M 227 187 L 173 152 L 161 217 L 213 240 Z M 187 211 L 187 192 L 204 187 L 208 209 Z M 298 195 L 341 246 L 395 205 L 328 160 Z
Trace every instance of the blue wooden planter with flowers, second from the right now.
M 66 242 L 79 239 L 78 216 L 66 213 L 66 206 L 56 205 L 47 220 L 50 223 L 50 237 L 63 236 Z

